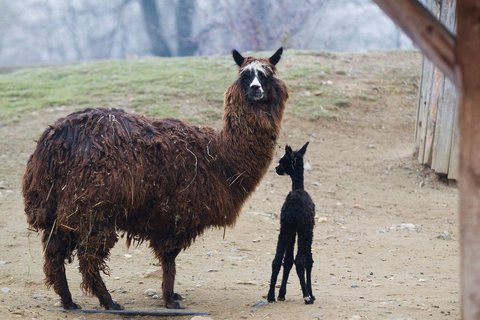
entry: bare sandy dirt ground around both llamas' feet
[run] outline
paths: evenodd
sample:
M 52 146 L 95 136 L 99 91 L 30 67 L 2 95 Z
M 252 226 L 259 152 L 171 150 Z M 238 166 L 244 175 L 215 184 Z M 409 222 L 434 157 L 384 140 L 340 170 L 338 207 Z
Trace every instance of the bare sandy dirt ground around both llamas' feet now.
M 387 61 L 382 78 L 366 69 L 349 71 L 379 59 Z M 334 118 L 306 121 L 287 115 L 277 149 L 279 158 L 285 143 L 298 148 L 310 141 L 305 187 L 317 208 L 315 303 L 303 303 L 294 270 L 286 301 L 264 303 L 278 213 L 291 186 L 289 178 L 275 174 L 272 163 L 233 229 L 225 235 L 208 231 L 179 255 L 175 289 L 189 310 L 208 311 L 216 320 L 460 319 L 458 191 L 413 157 L 421 58 L 371 54 L 347 60 L 350 69 L 334 73 L 324 85 L 362 86 L 364 95 L 350 96 Z M 369 92 L 376 98 L 365 98 Z M 33 140 L 70 111 L 25 114 L 0 127 L 2 319 L 121 318 L 60 311 L 57 296 L 43 284 L 40 237 L 27 230 L 20 181 Z M 145 294 L 155 289 L 161 295 L 160 266 L 145 245 L 127 250 L 119 241 L 109 266 L 107 287 L 126 309 L 162 307 L 161 300 Z M 85 309 L 98 308 L 96 298 L 80 291 L 76 262 L 67 276 L 74 300 Z

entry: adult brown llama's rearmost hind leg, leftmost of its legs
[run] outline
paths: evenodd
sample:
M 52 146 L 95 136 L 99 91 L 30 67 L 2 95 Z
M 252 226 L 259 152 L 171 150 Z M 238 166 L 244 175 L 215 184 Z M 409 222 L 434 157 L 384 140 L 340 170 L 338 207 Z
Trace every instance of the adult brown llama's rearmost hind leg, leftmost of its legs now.
M 65 274 L 65 260 L 71 257 L 75 248 L 73 239 L 67 234 L 61 232 L 43 232 L 42 237 L 45 263 L 43 271 L 45 273 L 45 283 L 48 287 L 53 286 L 53 290 L 60 296 L 62 307 L 64 309 L 81 309 L 74 303 L 72 294 L 68 288 L 67 276 Z

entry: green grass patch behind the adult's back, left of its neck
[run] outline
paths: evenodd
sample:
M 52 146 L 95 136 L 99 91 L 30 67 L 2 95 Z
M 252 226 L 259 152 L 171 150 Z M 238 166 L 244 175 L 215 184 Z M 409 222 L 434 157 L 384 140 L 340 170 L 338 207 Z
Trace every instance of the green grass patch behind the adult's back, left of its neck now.
M 227 57 L 102 61 L 0 74 L 0 121 L 26 111 L 112 106 L 152 116 L 187 117 L 185 101 L 222 104 L 235 79 Z M 207 97 L 207 98 L 205 98 Z M 220 97 L 215 99 L 213 97 Z

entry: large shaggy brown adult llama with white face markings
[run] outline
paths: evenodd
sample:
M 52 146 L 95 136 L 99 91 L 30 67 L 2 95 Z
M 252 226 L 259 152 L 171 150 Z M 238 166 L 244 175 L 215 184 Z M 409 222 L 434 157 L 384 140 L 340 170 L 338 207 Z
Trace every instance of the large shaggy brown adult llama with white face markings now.
M 117 109 L 87 109 L 57 120 L 38 140 L 23 178 L 28 223 L 42 231 L 45 283 L 65 309 L 73 300 L 65 263 L 79 260 L 82 289 L 105 309 L 120 309 L 100 272 L 118 240 L 148 241 L 159 259 L 167 308 L 175 258 L 207 228 L 233 226 L 264 176 L 280 131 L 287 87 L 270 58 L 236 50 L 238 79 L 225 92 L 223 127 L 153 119 Z

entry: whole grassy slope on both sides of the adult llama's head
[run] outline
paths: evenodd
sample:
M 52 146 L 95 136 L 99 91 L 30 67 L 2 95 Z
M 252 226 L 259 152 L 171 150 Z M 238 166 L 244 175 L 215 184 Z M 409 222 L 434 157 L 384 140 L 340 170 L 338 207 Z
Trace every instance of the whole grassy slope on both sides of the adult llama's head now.
M 345 90 L 329 83 L 342 77 L 354 78 L 353 69 L 368 67 L 349 65 L 348 55 L 288 50 L 278 70 L 278 76 L 290 87 L 287 113 L 315 120 L 335 116 L 336 110 L 348 107 L 352 98 L 375 100 L 361 88 Z M 18 69 L 0 73 L 0 123 L 15 121 L 26 111 L 91 106 L 116 106 L 152 116 L 210 123 L 221 118 L 223 92 L 235 78 L 236 67 L 226 56 Z

